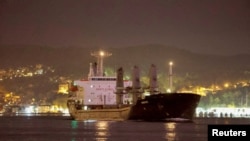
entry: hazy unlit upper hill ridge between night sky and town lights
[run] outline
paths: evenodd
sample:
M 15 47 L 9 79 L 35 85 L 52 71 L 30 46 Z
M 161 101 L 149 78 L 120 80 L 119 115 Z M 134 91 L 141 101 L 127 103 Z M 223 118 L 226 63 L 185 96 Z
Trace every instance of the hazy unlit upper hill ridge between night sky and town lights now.
M 105 67 L 117 69 L 123 67 L 131 71 L 138 65 L 145 73 L 153 63 L 159 73 L 168 71 L 168 62 L 173 61 L 176 75 L 198 75 L 199 79 L 237 79 L 250 73 L 250 55 L 219 56 L 197 54 L 187 50 L 163 46 L 141 45 L 124 48 L 101 48 L 112 53 L 105 59 Z M 44 64 L 56 68 L 62 75 L 74 74 L 74 77 L 87 75 L 89 63 L 96 61 L 90 52 L 99 48 L 52 48 L 38 46 L 0 47 L 0 69 Z

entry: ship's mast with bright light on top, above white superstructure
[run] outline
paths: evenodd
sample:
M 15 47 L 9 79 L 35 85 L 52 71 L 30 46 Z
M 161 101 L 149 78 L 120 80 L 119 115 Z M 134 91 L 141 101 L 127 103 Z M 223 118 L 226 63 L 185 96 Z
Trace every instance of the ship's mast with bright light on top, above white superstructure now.
M 105 51 L 98 51 L 98 52 L 91 53 L 91 56 L 94 56 L 94 57 L 97 58 L 96 76 L 104 76 L 104 73 L 103 73 L 103 59 L 105 57 L 109 57 L 111 55 L 112 55 L 112 53 L 105 52 Z

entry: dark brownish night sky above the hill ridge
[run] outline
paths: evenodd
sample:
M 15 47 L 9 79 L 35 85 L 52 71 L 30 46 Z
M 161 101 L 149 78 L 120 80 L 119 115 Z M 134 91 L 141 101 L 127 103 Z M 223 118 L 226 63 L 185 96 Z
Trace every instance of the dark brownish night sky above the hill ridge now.
M 0 45 L 249 53 L 249 0 L 0 0 Z

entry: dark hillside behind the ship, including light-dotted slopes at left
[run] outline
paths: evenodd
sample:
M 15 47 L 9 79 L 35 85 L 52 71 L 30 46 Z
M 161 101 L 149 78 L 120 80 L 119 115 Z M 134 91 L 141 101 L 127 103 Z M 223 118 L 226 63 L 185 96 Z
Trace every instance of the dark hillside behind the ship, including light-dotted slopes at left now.
M 211 84 L 224 84 L 226 81 L 250 80 L 250 55 L 203 55 L 162 45 L 103 49 L 112 53 L 104 61 L 105 70 L 114 72 L 123 67 L 125 73 L 130 74 L 132 67 L 137 65 L 141 75 L 145 76 L 150 65 L 155 64 L 161 88 L 168 85 L 169 61 L 174 63 L 173 83 L 177 90 L 189 86 L 210 87 Z M 53 103 L 60 97 L 57 95 L 59 84 L 87 76 L 89 63 L 96 61 L 90 53 L 98 50 L 99 48 L 76 47 L 0 47 L 0 75 L 9 72 L 1 78 L 0 95 L 13 92 L 21 96 L 24 103 L 29 103 L 33 98 L 38 102 Z M 17 68 L 29 68 L 36 64 L 50 66 L 55 71 L 47 71 L 34 77 L 15 76 Z

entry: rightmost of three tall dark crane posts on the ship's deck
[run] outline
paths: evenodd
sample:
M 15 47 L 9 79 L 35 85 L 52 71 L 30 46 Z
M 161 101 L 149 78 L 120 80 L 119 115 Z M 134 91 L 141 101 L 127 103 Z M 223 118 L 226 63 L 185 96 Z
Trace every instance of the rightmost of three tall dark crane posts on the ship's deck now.
M 157 70 L 154 64 L 151 65 L 149 70 L 149 91 L 153 94 L 158 92 Z

